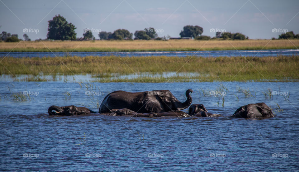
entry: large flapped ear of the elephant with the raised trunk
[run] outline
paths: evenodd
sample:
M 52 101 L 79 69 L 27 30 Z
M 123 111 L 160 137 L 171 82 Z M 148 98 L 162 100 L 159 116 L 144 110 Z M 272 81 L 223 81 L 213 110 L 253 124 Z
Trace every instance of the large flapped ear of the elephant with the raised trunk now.
M 163 108 L 161 107 L 161 103 L 156 98 L 156 95 L 146 95 L 142 101 L 143 106 L 146 110 L 150 112 L 161 112 Z

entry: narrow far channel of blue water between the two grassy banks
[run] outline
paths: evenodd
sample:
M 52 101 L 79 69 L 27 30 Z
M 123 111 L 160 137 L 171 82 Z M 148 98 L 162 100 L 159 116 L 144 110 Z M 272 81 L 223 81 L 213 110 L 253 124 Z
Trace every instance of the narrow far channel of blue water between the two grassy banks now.
M 251 56 L 265 57 L 277 55 L 298 55 L 299 49 L 285 50 L 223 50 L 223 51 L 145 51 L 145 52 L 0 52 L 0 57 L 59 57 L 59 56 L 110 56 L 116 55 L 119 57 L 127 56 L 202 56 L 202 57 L 234 57 L 234 56 Z

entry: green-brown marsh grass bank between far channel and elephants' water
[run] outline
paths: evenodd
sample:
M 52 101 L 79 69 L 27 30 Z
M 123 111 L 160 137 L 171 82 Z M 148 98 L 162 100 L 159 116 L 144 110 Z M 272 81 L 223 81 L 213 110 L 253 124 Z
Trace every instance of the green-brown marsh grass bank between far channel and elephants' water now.
M 298 81 L 299 55 L 278 57 L 131 57 L 87 56 L 0 58 L 0 74 L 92 74 L 98 82 Z M 187 63 L 186 63 L 187 62 Z M 165 77 L 163 72 L 177 72 Z M 146 73 L 146 75 L 144 75 Z M 182 75 L 182 73 L 184 73 Z M 193 74 L 188 74 L 193 73 Z M 139 74 L 135 78 L 119 75 Z M 151 76 L 152 74 L 156 74 Z M 158 74 L 158 75 L 157 75 Z M 159 75 L 160 74 L 160 75 Z M 179 75 L 180 74 L 180 75 Z M 28 81 L 43 79 L 28 79 Z

